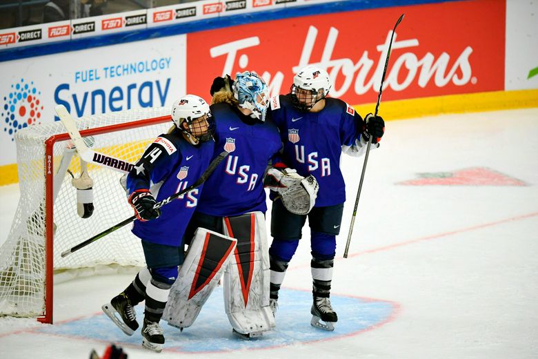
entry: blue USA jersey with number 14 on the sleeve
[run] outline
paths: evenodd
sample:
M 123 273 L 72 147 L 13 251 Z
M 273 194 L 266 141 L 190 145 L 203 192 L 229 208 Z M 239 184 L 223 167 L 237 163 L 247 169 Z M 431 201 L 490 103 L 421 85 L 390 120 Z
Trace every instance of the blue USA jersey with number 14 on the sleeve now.
M 160 200 L 193 184 L 207 168 L 214 142 L 192 146 L 179 130 L 163 134 L 148 146 L 136 166 L 127 176 L 128 192 L 150 189 Z M 189 191 L 177 200 L 161 207 L 161 216 L 148 222 L 135 221 L 132 233 L 142 240 L 179 246 L 203 186 Z

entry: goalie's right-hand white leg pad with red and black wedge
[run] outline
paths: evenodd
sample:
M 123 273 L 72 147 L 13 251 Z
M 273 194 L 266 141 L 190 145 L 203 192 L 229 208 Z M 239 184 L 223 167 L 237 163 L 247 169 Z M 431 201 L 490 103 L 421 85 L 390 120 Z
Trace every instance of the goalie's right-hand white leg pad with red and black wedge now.
M 270 265 L 265 217 L 261 212 L 225 217 L 225 231 L 237 247 L 224 272 L 224 307 L 234 331 L 260 336 L 275 328 L 269 307 Z

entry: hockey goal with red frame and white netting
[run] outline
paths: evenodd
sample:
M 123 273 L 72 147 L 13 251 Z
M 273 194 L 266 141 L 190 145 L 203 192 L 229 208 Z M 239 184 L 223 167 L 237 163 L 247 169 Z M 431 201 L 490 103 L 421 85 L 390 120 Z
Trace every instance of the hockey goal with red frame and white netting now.
M 92 115 L 75 122 L 82 137 L 91 139 L 94 151 L 130 163 L 172 126 L 169 108 Z M 80 176 L 81 165 L 68 140 L 61 122 L 29 126 L 15 135 L 20 200 L 0 248 L 0 315 L 52 323 L 53 273 L 92 272 L 111 264 L 145 265 L 140 240 L 130 232 L 132 226 L 61 258 L 62 251 L 133 214 L 119 184 L 122 174 L 88 164 L 94 212 L 86 219 L 77 215 L 77 189 L 71 178 Z

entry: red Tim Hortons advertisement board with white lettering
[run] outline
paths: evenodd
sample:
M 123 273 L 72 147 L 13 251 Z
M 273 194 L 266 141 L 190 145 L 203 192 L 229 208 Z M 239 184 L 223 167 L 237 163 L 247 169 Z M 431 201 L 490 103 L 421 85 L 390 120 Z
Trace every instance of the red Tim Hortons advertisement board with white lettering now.
M 392 28 L 383 99 L 504 90 L 506 1 L 432 3 L 252 23 L 187 35 L 187 90 L 209 97 L 212 80 L 255 70 L 286 94 L 303 66 L 326 68 L 330 95 L 377 101 Z

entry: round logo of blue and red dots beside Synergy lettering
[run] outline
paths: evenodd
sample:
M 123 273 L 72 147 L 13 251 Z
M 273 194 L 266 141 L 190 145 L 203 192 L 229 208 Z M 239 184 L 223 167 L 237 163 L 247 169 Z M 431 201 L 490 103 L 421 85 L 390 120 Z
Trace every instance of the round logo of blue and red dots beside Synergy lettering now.
M 43 104 L 39 100 L 41 91 L 34 86 L 34 81 L 21 79 L 17 84 L 11 85 L 8 95 L 2 97 L 1 119 L 3 119 L 3 132 L 7 133 L 11 140 L 14 134 L 21 128 L 31 124 L 41 123 Z

